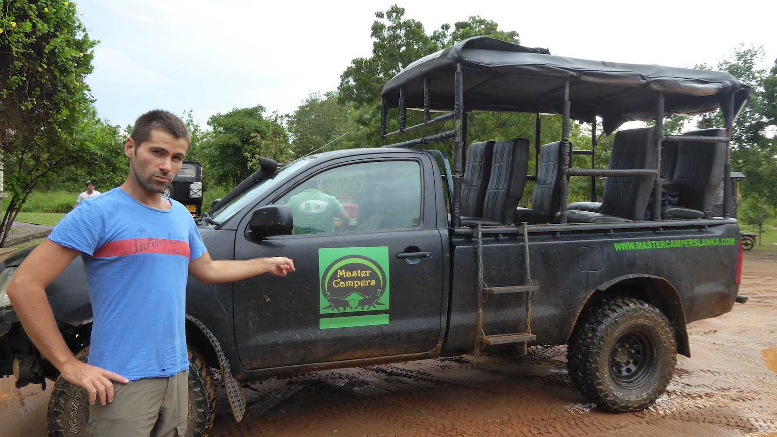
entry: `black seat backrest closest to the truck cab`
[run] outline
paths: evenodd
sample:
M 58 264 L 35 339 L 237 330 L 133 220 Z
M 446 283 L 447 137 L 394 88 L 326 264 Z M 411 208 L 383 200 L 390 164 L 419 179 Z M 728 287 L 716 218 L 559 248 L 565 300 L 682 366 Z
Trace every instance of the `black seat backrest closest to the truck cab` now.
M 474 142 L 467 149 L 467 163 L 462 177 L 462 217 L 483 217 L 483 201 L 491 176 L 493 145 L 497 142 Z

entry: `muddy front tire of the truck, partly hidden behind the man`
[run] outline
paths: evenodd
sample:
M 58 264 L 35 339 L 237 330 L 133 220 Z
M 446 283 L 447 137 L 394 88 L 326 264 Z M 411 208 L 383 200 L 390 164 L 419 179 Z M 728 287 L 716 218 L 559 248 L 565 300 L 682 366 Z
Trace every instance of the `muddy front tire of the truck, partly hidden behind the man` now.
M 75 355 L 86 362 L 89 347 Z M 211 369 L 197 351 L 189 350 L 189 425 L 186 437 L 205 437 L 211 432 L 216 409 L 216 385 Z M 89 394 L 61 376 L 54 383 L 47 414 L 50 437 L 82 437 L 89 423 Z

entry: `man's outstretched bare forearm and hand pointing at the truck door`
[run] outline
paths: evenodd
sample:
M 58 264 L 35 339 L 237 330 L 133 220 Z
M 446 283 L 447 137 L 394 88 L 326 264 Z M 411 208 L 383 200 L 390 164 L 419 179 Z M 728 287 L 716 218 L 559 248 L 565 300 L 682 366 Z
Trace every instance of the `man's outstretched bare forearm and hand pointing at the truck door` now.
M 284 257 L 214 261 L 205 252 L 189 262 L 189 272 L 204 284 L 241 281 L 264 273 L 286 276 L 290 271 L 294 271 L 294 261 Z

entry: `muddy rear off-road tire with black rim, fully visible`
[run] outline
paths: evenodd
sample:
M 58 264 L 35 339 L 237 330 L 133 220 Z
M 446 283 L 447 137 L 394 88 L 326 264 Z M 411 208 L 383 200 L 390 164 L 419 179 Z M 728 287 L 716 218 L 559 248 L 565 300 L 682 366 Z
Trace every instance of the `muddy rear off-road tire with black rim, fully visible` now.
M 671 323 L 639 299 L 608 299 L 587 309 L 566 348 L 573 385 L 605 411 L 639 411 L 653 404 L 676 362 Z

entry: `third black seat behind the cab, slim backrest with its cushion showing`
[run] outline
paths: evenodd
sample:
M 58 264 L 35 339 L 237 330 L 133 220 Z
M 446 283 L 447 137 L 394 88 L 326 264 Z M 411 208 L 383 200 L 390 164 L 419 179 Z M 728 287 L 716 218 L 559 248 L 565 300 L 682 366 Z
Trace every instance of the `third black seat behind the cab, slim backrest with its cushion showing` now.
M 539 167 L 534 191 L 531 194 L 531 208 L 517 208 L 513 222 L 529 224 L 552 222 L 553 214 L 559 211 L 560 182 L 561 142 L 542 145 L 539 148 Z

